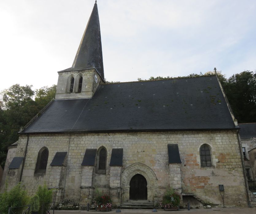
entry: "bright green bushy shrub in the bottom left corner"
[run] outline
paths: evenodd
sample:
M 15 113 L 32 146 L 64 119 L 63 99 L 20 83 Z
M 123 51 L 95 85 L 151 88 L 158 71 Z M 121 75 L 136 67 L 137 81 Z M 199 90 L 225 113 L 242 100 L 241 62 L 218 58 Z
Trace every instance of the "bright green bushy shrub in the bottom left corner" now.
M 9 192 L 6 190 L 4 193 L 0 194 L 0 213 L 8 213 L 9 207 L 21 207 L 28 205 L 29 196 L 27 195 L 26 190 L 21 186 L 21 183 L 18 183 L 14 186 Z M 21 213 L 23 208 L 13 208 L 12 211 L 15 213 Z

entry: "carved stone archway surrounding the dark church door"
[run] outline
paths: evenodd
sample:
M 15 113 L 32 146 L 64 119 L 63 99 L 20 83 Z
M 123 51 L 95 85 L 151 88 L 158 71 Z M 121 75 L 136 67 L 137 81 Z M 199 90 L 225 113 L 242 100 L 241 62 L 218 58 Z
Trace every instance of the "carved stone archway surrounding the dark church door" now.
M 147 180 L 147 200 L 154 201 L 153 196 L 157 188 L 157 177 L 150 167 L 142 163 L 134 163 L 124 169 L 121 180 L 121 187 L 123 189 L 122 201 L 129 199 L 130 181 L 136 174 L 143 175 Z

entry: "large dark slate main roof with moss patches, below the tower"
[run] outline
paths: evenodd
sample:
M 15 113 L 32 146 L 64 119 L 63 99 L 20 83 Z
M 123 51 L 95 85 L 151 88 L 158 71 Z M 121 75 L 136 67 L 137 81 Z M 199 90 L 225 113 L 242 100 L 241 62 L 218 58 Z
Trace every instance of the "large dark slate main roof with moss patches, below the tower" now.
M 54 100 L 21 133 L 234 129 L 216 76 L 99 85 Z

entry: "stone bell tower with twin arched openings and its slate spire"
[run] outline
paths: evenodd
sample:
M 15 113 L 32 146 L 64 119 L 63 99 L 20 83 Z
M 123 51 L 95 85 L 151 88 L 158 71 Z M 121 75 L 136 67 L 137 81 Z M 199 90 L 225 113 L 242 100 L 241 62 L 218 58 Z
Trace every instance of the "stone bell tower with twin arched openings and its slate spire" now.
M 72 67 L 58 74 L 55 99 L 91 98 L 99 84 L 105 83 L 97 1 Z

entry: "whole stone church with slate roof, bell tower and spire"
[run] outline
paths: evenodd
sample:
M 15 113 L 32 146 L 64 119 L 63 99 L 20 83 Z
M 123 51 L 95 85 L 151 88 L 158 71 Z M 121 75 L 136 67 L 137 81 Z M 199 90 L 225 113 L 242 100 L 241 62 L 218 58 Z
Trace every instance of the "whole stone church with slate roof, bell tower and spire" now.
M 79 205 L 97 188 L 119 206 L 173 187 L 184 202 L 221 206 L 224 185 L 227 207 L 250 204 L 239 126 L 217 76 L 106 84 L 97 3 L 72 67 L 58 73 L 55 100 L 9 148 L 8 188 L 21 182 L 33 195 L 46 183 L 54 201 Z

